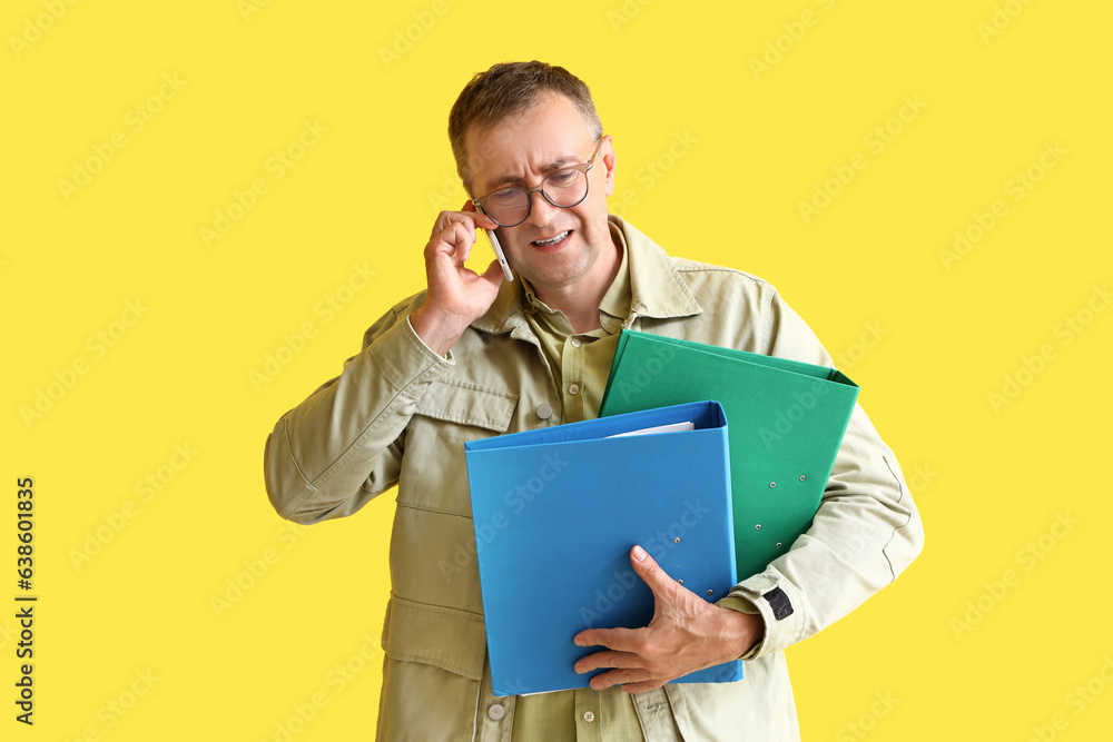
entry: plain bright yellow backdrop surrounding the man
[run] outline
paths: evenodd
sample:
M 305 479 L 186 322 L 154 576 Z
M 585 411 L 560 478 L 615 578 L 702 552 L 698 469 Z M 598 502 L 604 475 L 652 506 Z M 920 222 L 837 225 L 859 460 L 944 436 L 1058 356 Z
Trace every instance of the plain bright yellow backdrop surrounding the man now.
M 776 285 L 913 485 L 924 554 L 788 652 L 804 738 L 1107 739 L 1109 3 L 70 2 L 0 13 L 0 736 L 367 738 L 393 495 L 286 525 L 263 444 L 424 287 L 459 90 L 540 58 L 592 88 L 615 210 Z

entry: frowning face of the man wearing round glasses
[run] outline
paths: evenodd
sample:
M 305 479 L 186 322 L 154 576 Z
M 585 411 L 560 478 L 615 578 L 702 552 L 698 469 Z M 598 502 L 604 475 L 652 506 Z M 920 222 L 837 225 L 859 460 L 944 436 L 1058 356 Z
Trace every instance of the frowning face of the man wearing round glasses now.
M 471 127 L 464 148 L 472 190 L 482 198 L 509 186 L 536 188 L 553 170 L 587 162 L 595 142 L 575 106 L 564 96 L 549 95 L 521 116 L 483 131 Z M 610 261 L 600 256 L 615 249 L 607 226 L 607 197 L 613 190 L 614 150 L 610 137 L 604 137 L 588 171 L 587 198 L 571 208 L 558 208 L 540 192 L 533 194 L 525 221 L 499 229 L 511 268 L 541 294 L 599 279 L 597 273 L 610 269 Z M 555 244 L 546 243 L 565 231 Z

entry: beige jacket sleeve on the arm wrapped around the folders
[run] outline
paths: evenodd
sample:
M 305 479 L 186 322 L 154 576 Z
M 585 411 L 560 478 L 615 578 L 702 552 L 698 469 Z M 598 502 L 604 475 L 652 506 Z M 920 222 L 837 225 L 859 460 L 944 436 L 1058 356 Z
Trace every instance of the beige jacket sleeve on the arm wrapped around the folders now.
M 775 291 L 766 303 L 761 352 L 834 366 Z M 923 544 L 919 514 L 896 457 L 855 405 L 811 527 L 719 603 L 765 620 L 765 637 L 743 659 L 780 652 L 835 623 L 893 582 Z

